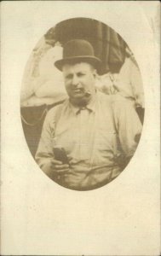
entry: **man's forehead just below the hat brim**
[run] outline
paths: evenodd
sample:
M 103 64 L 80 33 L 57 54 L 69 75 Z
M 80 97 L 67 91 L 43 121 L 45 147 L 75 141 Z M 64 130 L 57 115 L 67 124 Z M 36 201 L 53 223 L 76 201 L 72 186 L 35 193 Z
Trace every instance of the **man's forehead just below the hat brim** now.
M 92 66 L 86 62 L 75 64 L 65 64 L 62 68 L 63 73 L 78 73 L 78 72 L 91 72 Z

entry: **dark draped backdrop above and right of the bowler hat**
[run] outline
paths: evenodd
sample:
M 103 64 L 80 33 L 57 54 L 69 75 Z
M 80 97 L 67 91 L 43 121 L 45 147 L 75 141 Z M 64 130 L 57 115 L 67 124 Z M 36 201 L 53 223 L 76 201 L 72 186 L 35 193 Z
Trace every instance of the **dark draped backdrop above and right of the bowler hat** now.
M 101 74 L 118 73 L 124 63 L 126 44 L 117 32 L 98 20 L 75 18 L 61 21 L 45 35 L 63 46 L 72 39 L 85 39 L 93 45 L 95 56 L 102 61 Z

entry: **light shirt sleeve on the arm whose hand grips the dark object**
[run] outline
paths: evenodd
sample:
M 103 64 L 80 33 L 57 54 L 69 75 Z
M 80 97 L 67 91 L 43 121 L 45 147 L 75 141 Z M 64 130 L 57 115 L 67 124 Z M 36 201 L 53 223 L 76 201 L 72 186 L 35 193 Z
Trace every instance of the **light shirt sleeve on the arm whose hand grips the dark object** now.
M 42 168 L 42 170 L 54 157 L 52 145 L 54 134 L 55 114 L 53 109 L 51 109 L 44 119 L 43 130 L 38 144 L 37 153 L 35 155 L 35 160 L 37 160 L 37 164 Z

